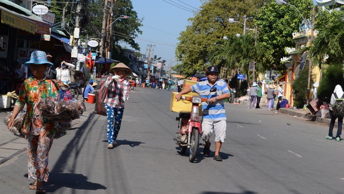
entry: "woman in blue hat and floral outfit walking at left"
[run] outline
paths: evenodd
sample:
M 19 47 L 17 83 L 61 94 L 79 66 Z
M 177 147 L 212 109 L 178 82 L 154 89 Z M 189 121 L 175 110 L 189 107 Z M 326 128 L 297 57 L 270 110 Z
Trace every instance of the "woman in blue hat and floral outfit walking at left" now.
M 54 99 L 58 94 L 59 86 L 64 84 L 62 81 L 54 83 L 46 79 L 45 70 L 53 64 L 47 61 L 45 52 L 39 50 L 32 52 L 30 61 L 25 64 L 30 66 L 34 77 L 25 79 L 21 85 L 19 97 L 15 102 L 7 127 L 11 130 L 15 117 L 26 105 L 23 132 L 27 141 L 28 178 L 34 180 L 29 189 L 35 190 L 36 194 L 45 194 L 42 186 L 43 182 L 47 182 L 49 178 L 49 150 L 58 128 L 54 120 L 40 115 L 36 105 L 41 99 Z

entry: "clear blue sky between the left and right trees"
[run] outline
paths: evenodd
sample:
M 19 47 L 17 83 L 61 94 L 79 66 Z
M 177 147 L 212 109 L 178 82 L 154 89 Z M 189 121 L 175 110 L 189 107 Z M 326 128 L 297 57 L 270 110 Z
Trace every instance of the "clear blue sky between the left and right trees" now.
M 135 41 L 139 44 L 140 53 L 148 56 L 149 46 L 152 45 L 151 56 L 157 55 L 166 64 L 174 66 L 175 48 L 179 42 L 179 33 L 189 25 L 188 18 L 194 17 L 204 0 L 132 0 L 138 18 L 143 18 L 140 27 L 142 35 Z M 316 4 L 316 0 L 313 0 Z M 129 45 L 127 46 L 132 49 Z

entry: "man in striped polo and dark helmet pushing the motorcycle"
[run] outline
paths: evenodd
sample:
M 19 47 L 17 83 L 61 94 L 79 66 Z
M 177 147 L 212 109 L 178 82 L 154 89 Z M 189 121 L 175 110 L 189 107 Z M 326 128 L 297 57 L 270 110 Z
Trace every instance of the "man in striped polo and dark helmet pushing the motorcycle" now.
M 191 87 L 181 90 L 175 98 L 180 100 L 181 95 L 189 92 L 196 92 L 202 98 L 209 98 L 208 102 L 202 102 L 202 136 L 206 145 L 203 150 L 204 155 L 209 155 L 210 136 L 215 133 L 215 156 L 214 160 L 222 161 L 220 157 L 220 149 L 222 143 L 226 139 L 226 112 L 224 108 L 224 99 L 231 97 L 231 93 L 227 87 L 227 83 L 218 80 L 218 69 L 215 66 L 206 68 L 207 80 L 198 82 Z M 215 87 L 216 92 L 210 92 L 210 88 Z

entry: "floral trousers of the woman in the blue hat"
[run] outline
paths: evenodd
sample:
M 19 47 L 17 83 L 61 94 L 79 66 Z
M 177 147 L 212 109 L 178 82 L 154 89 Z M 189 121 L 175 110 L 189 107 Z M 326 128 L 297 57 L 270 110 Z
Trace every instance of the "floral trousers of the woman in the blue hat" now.
M 37 135 L 26 136 L 30 180 L 48 182 L 48 156 L 53 139 L 54 135 L 48 135 L 45 130 L 41 130 Z

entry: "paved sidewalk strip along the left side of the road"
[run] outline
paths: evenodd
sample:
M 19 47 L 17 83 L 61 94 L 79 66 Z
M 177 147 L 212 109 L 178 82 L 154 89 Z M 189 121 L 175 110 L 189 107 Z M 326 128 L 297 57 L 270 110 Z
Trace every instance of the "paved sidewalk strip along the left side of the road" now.
M 78 99 L 81 100 L 82 97 L 79 97 Z M 80 116 L 80 118 L 72 121 L 71 128 L 77 128 L 78 126 L 81 126 L 90 116 L 90 114 L 94 112 L 95 104 L 85 102 L 85 106 L 86 111 L 82 114 L 82 116 Z M 26 151 L 25 139 L 15 136 L 3 123 L 5 116 L 11 113 L 12 110 L 13 107 L 8 109 L 0 109 L 0 164 Z

